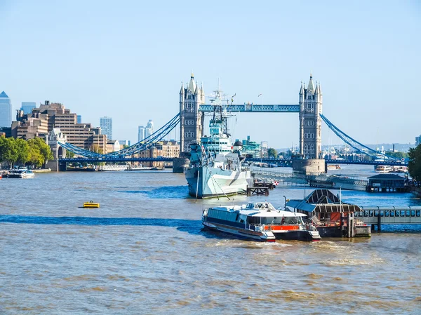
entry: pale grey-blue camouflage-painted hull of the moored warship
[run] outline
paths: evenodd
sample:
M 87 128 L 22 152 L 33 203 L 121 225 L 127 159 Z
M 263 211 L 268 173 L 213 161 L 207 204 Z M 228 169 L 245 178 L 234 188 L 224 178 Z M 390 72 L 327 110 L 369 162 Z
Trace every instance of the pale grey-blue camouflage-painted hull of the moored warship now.
M 233 194 L 246 194 L 250 171 L 222 170 L 196 167 L 185 171 L 189 194 L 194 198 L 213 198 Z

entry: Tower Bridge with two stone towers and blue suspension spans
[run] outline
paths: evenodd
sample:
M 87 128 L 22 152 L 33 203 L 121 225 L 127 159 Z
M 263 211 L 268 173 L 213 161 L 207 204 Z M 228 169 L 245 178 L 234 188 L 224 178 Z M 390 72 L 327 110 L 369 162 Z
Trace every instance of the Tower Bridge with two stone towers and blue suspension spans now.
M 323 116 L 323 95 L 321 93 L 320 83 L 314 83 L 313 76 L 310 74 L 309 83 L 301 83 L 300 91 L 298 93 L 299 100 L 298 104 L 290 105 L 255 105 L 255 104 L 243 104 L 236 105 L 231 104 L 227 101 L 227 104 L 222 105 L 222 109 L 230 113 L 298 113 L 299 132 L 300 132 L 300 155 L 304 158 L 300 163 L 315 164 L 316 169 L 324 170 L 325 163 L 358 163 L 358 164 L 370 164 L 377 165 L 379 161 L 339 161 L 339 160 L 321 160 L 321 122 L 324 121 L 326 125 L 333 130 L 347 145 L 355 149 L 357 153 L 367 154 L 377 158 L 382 156 L 385 161 L 382 164 L 387 165 L 408 165 L 407 161 L 400 161 L 393 159 L 385 154 L 381 154 L 369 147 L 366 147 L 361 142 L 354 140 L 349 135 L 344 133 L 332 122 L 330 122 L 326 116 Z M 149 135 L 149 137 L 138 142 L 131 147 L 127 147 L 118 152 L 112 152 L 109 154 L 99 154 L 91 152 L 80 147 L 76 147 L 69 142 L 63 140 L 57 140 L 56 145 L 60 145 L 64 149 L 74 152 L 78 156 L 89 159 L 85 160 L 88 162 L 93 161 L 140 161 L 136 159 L 133 154 L 137 154 L 146 149 L 153 149 L 156 142 L 163 140 L 168 133 L 171 132 L 178 124 L 180 124 L 180 152 L 186 152 L 188 154 L 190 147 L 189 143 L 196 140 L 199 141 L 203 136 L 203 123 L 206 113 L 214 111 L 215 105 L 205 104 L 205 92 L 203 85 L 194 81 L 194 74 L 191 75 L 189 82 L 186 84 L 181 83 L 179 93 L 179 112 L 176 114 L 171 121 L 168 121 L 164 126 L 156 130 L 155 133 Z M 72 161 L 81 161 L 83 158 L 77 159 L 61 159 L 61 163 L 69 163 Z M 168 158 L 165 158 L 168 159 Z M 262 160 L 262 159 L 259 159 Z M 145 160 L 146 161 L 146 160 Z M 150 158 L 147 161 L 163 161 L 163 158 Z M 251 161 L 251 159 L 250 159 Z M 269 160 L 277 162 L 283 166 L 293 166 L 293 162 L 288 159 L 275 159 Z M 295 163 L 296 164 L 296 163 Z M 304 165 L 304 164 L 303 164 Z

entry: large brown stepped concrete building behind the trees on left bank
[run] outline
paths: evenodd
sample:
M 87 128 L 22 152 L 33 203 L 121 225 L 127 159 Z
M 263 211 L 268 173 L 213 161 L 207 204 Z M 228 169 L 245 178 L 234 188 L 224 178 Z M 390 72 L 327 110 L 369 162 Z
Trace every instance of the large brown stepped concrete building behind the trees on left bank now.
M 50 103 L 32 109 L 32 114 L 18 111 L 13 121 L 11 135 L 25 140 L 35 137 L 46 138 L 53 128 L 60 128 L 67 142 L 83 149 L 107 153 L 107 139 L 101 128 L 92 127 L 91 123 L 76 123 L 76 114 L 60 103 Z

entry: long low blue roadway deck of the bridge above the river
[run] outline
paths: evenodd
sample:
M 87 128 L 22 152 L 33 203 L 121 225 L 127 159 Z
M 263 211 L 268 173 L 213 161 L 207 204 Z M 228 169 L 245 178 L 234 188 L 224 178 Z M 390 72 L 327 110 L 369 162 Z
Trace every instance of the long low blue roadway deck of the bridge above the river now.
M 173 158 L 156 157 L 156 158 L 119 158 L 119 157 L 102 157 L 102 158 L 73 158 L 60 159 L 60 163 L 98 163 L 98 162 L 172 162 Z M 261 162 L 279 164 L 280 166 L 292 167 L 293 160 L 291 159 L 258 159 L 246 158 L 248 162 Z M 388 166 L 408 166 L 408 161 L 345 161 L 345 160 L 326 160 L 328 164 L 360 164 L 360 165 L 388 165 Z

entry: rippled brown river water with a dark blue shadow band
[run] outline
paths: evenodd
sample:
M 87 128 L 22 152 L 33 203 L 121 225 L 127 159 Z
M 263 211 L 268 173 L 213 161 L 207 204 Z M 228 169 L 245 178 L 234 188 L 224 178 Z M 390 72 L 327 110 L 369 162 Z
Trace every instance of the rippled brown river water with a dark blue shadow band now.
M 309 192 L 278 187 L 263 199 L 278 207 Z M 411 194 L 342 199 L 421 206 Z M 80 208 L 90 200 L 101 208 Z M 184 175 L 166 171 L 0 180 L 0 314 L 421 313 L 421 227 L 318 243 L 201 229 L 204 208 L 258 200 L 195 201 Z

